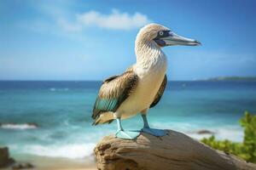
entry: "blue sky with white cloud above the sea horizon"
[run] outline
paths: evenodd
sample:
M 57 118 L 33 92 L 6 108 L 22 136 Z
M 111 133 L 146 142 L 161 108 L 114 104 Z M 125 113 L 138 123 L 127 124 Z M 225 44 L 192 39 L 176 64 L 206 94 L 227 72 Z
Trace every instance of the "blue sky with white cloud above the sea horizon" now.
M 136 59 L 137 31 L 164 25 L 169 80 L 256 75 L 256 1 L 0 1 L 0 79 L 102 80 Z

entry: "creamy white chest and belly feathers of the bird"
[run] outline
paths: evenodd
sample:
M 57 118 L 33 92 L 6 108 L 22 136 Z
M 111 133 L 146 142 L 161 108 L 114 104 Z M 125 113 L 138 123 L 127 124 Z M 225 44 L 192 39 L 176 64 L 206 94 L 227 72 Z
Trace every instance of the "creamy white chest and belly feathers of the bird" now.
M 119 107 L 121 118 L 128 118 L 148 109 L 166 74 L 166 55 L 161 50 L 154 50 L 133 65 L 133 71 L 139 77 L 137 88 Z M 148 58 L 146 58 L 148 57 Z

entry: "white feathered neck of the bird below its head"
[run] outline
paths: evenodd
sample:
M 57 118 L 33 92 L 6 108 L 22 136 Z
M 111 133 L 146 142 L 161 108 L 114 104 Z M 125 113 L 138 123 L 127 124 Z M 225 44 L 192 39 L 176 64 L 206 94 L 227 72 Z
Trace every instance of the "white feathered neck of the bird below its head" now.
M 136 67 L 140 70 L 152 71 L 160 69 L 160 67 L 166 70 L 166 54 L 154 41 L 143 41 L 143 39 L 137 38 L 135 53 Z

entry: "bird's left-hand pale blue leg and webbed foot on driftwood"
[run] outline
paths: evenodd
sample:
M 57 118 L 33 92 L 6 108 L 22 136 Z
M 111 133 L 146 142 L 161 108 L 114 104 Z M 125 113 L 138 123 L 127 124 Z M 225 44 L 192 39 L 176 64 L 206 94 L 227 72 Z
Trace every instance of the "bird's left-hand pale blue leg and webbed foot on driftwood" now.
M 121 125 L 121 120 L 120 118 L 116 118 L 117 125 L 118 125 L 118 130 L 115 133 L 115 137 L 119 139 L 137 139 L 138 135 L 140 135 L 140 132 L 136 131 L 125 131 Z

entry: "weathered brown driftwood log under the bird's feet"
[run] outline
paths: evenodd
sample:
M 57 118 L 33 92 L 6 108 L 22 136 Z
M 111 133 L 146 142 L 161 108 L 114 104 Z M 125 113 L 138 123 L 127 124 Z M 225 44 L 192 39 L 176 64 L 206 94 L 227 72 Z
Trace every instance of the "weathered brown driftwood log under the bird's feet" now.
M 253 163 L 172 130 L 161 138 L 147 133 L 136 140 L 108 136 L 94 152 L 100 170 L 256 170 Z

